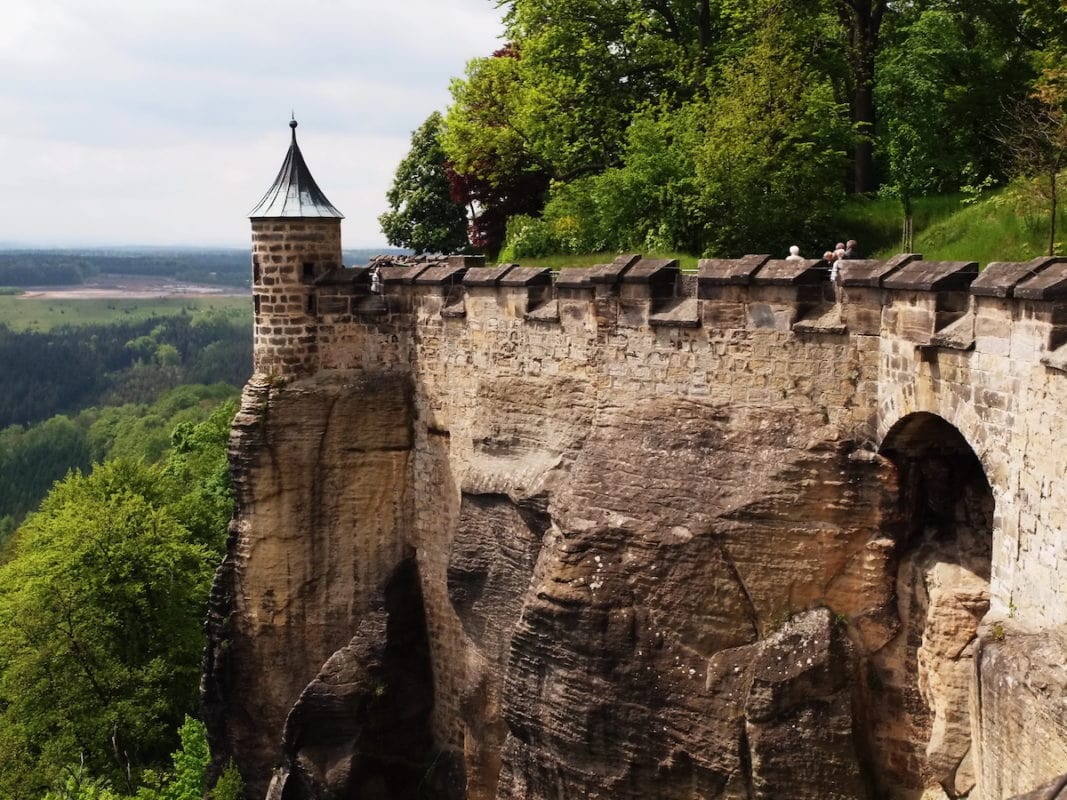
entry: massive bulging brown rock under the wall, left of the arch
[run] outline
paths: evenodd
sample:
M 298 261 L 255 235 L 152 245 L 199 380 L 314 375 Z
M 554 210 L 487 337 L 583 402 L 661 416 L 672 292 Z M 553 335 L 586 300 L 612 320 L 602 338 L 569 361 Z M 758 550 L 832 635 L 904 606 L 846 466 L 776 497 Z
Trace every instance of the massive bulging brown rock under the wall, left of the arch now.
M 560 786 L 567 797 L 771 797 L 769 787 L 782 785 L 773 770 L 753 774 L 746 743 L 753 674 L 784 646 L 776 639 L 766 655 L 761 633 L 816 598 L 838 603 L 844 617 L 873 611 L 889 595 L 876 567 L 877 502 L 872 517 L 842 506 L 827 518 L 822 491 L 845 471 L 851 491 L 873 498 L 880 466 L 813 445 L 815 418 L 792 431 L 761 419 L 752 410 L 664 400 L 601 420 L 550 505 L 555 526 L 511 641 L 497 797 L 557 797 Z M 808 503 L 826 522 L 790 515 Z M 828 550 L 840 558 L 825 562 Z M 829 634 L 821 667 L 832 652 Z M 808 678 L 817 711 L 798 710 L 808 702 L 799 681 L 781 718 L 753 717 L 768 765 L 781 764 L 769 752 L 780 724 L 826 722 L 819 747 L 840 745 L 837 736 L 850 730 L 848 668 L 830 672 L 832 679 Z M 832 796 L 862 796 L 856 762 L 840 749 L 811 774 L 791 797 L 831 796 L 830 786 L 841 787 Z M 768 788 L 750 795 L 758 781 Z

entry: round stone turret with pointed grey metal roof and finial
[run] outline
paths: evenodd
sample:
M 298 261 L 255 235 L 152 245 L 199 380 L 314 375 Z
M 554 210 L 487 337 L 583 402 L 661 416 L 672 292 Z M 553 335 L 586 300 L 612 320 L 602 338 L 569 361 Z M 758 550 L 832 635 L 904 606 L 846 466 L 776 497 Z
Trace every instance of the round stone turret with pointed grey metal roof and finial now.
M 252 220 L 252 297 L 255 371 L 283 378 L 316 367 L 318 319 L 315 282 L 341 265 L 344 214 L 319 189 L 292 141 Z

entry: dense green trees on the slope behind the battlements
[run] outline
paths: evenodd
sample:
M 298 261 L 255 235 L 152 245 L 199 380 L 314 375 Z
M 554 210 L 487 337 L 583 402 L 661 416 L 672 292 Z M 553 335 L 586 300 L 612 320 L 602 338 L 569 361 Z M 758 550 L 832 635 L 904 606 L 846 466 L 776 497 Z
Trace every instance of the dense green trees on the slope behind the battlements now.
M 1041 252 L 1062 252 L 1060 0 L 500 6 L 504 45 L 451 81 L 397 169 L 391 243 L 813 254 L 880 199 L 909 249 L 917 202 L 1010 183 L 1039 205 Z

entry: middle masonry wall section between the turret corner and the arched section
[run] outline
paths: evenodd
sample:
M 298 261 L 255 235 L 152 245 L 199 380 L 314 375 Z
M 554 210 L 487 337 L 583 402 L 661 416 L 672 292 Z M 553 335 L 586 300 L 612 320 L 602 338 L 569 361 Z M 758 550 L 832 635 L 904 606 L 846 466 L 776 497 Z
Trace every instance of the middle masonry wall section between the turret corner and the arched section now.
M 761 302 L 787 305 L 770 294 Z M 786 428 L 796 412 L 815 411 L 830 441 L 873 430 L 876 337 L 653 326 L 651 299 L 634 290 L 575 290 L 557 302 L 557 315 L 537 320 L 527 317 L 525 287 L 413 298 L 412 541 L 434 650 L 437 735 L 456 747 L 466 738 L 462 706 L 483 665 L 506 658 L 469 640 L 447 596 L 452 538 L 472 498 L 521 503 L 558 489 L 603 415 L 653 398 L 688 398 L 727 413 L 777 409 Z M 714 301 L 701 304 L 698 314 L 715 316 Z M 782 609 L 763 611 L 769 624 Z

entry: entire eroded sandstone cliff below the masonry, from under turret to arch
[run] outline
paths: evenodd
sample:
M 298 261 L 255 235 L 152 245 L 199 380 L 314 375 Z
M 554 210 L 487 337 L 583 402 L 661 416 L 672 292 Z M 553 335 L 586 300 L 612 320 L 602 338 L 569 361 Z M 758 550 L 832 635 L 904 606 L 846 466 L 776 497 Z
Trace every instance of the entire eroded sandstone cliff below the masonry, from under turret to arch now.
M 971 791 L 985 500 L 913 513 L 925 474 L 817 410 L 539 379 L 444 427 L 410 391 L 245 395 L 206 688 L 250 797 L 278 762 L 275 800 Z

